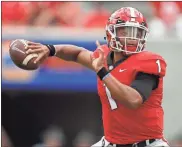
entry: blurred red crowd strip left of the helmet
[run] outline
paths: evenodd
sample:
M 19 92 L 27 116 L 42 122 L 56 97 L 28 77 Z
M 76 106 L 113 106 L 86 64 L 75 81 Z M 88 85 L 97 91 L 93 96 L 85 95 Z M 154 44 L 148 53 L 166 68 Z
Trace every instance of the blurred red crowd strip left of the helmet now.
M 92 5 L 93 11 L 85 13 L 80 2 L 2 2 L 2 24 L 103 27 L 110 13 L 103 2 Z

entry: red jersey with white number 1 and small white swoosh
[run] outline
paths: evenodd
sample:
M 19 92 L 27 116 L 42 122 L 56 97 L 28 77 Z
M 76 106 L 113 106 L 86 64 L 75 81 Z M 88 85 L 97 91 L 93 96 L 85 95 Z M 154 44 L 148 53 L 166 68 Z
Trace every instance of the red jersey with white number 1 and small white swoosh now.
M 110 53 L 103 45 L 105 56 Z M 94 52 L 96 54 L 97 51 Z M 105 61 L 107 68 L 107 59 Z M 138 72 L 159 76 L 158 87 L 138 109 L 129 109 L 112 98 L 107 87 L 98 78 L 98 94 L 102 103 L 102 118 L 105 138 L 115 144 L 163 138 L 163 77 L 166 73 L 164 59 L 152 52 L 143 51 L 128 57 L 110 73 L 125 85 L 130 85 Z

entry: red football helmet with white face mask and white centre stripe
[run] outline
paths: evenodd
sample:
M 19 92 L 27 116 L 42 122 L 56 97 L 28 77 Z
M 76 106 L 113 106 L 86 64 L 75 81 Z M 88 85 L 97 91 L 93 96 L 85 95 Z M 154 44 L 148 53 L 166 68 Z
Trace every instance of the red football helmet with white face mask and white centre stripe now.
M 106 25 L 106 40 L 110 49 L 127 55 L 143 51 L 148 33 L 145 18 L 132 7 L 115 11 Z

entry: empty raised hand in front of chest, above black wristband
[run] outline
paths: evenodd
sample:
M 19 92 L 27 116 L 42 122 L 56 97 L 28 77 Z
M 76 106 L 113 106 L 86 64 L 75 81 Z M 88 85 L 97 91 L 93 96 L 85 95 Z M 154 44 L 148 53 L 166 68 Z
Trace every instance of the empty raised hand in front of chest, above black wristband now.
M 91 61 L 92 61 L 92 67 L 97 73 L 102 67 L 104 67 L 104 51 L 98 40 L 96 41 L 96 45 L 99 56 L 96 57 L 94 55 L 91 55 Z

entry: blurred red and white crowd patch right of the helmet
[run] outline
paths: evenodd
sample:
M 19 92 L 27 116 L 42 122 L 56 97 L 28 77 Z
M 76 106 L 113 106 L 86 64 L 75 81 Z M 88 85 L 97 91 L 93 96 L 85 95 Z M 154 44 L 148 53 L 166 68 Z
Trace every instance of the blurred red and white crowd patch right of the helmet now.
M 182 2 L 150 2 L 153 8 L 153 18 L 149 27 L 153 37 L 182 38 Z

